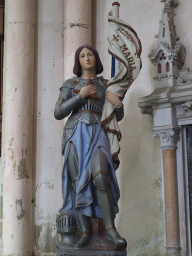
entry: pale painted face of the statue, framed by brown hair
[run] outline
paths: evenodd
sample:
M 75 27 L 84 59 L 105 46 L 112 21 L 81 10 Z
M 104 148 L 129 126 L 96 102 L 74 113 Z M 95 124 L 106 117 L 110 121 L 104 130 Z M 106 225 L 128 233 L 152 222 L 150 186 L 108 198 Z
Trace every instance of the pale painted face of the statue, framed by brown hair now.
M 82 70 L 95 71 L 96 59 L 94 53 L 87 48 L 83 48 L 79 54 L 79 63 Z

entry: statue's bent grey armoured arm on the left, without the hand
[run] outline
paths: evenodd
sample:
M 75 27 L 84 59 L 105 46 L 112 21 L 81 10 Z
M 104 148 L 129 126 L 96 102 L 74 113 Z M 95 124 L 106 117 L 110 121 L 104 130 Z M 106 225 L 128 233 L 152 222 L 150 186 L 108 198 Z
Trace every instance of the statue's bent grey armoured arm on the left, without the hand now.
M 72 96 L 72 88 L 62 86 L 54 108 L 54 117 L 61 120 L 84 100 L 79 93 Z

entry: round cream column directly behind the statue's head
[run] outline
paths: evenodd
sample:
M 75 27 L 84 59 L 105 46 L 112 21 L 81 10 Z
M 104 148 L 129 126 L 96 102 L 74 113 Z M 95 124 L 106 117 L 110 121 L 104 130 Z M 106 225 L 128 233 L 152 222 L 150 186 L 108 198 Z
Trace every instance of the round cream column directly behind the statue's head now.
M 69 15 L 70 13 L 70 15 Z M 74 52 L 82 44 L 91 44 L 91 1 L 64 1 L 64 79 L 71 78 Z

